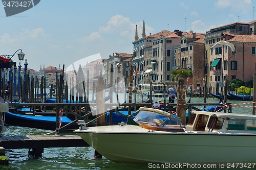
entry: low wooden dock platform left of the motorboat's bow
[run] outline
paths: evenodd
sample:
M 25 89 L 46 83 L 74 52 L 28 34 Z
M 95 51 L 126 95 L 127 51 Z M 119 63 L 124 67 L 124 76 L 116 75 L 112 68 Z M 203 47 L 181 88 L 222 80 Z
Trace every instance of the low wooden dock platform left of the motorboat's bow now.
M 0 147 L 5 149 L 44 149 L 89 147 L 89 144 L 77 135 L 24 135 L 2 136 L 0 137 Z

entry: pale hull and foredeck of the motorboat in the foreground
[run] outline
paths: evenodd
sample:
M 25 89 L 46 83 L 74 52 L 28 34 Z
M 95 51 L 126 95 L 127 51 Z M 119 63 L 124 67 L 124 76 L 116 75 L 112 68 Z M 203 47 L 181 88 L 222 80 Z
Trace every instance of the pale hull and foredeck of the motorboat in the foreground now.
M 156 132 L 139 126 L 76 130 L 104 157 L 129 163 L 254 162 L 256 135 L 217 132 Z

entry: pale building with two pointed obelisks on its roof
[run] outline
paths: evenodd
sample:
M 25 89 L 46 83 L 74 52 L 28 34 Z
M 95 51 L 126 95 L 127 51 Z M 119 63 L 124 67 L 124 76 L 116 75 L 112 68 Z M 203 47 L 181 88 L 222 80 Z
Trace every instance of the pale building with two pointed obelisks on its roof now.
M 182 32 L 163 30 L 146 36 L 143 21 L 142 38 L 138 38 L 137 26 L 135 31 L 133 62 L 137 83 L 151 81 L 170 81 L 174 66 L 174 46 L 180 43 Z

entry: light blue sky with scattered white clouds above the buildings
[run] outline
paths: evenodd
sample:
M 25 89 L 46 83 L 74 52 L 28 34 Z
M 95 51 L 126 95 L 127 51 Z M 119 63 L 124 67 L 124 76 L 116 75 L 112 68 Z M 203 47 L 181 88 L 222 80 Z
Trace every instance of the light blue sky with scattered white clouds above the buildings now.
M 141 38 L 143 20 L 146 36 L 162 30 L 206 33 L 229 23 L 252 21 L 253 7 L 253 0 L 41 0 L 7 17 L 2 6 L 0 55 L 21 48 L 31 69 L 63 64 L 67 68 L 95 54 L 103 59 L 116 52 L 133 54 L 135 27 Z M 12 59 L 19 62 L 17 55 Z

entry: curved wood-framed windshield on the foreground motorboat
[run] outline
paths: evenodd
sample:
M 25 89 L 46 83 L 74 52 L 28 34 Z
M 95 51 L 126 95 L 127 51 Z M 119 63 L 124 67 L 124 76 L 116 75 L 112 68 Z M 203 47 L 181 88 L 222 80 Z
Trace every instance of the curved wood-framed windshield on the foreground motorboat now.
M 135 116 L 134 121 L 139 125 L 167 127 L 169 125 L 181 127 L 182 120 L 167 112 L 161 114 L 153 111 L 140 110 Z

